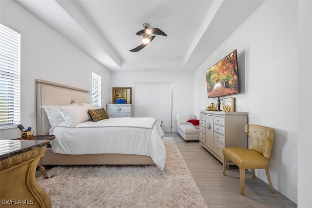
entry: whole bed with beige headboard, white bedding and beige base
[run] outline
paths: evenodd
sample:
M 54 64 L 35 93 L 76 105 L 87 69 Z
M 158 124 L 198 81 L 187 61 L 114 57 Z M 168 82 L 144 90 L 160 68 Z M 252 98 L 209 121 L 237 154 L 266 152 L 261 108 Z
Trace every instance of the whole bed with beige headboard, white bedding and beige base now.
M 56 136 L 56 139 L 50 142 L 51 147 L 47 148 L 45 155 L 41 157 L 39 166 L 156 165 L 160 169 L 164 168 L 166 150 L 161 139 L 164 133 L 156 119 L 109 118 L 78 123 L 75 123 L 77 119 L 66 120 L 66 116 L 77 117 L 80 112 L 83 113 L 82 108 L 99 110 L 88 104 L 89 102 L 88 90 L 36 80 L 37 135 Z M 46 111 L 46 107 L 50 107 L 50 111 Z M 58 124 L 51 120 L 49 122 L 51 109 L 65 112 L 63 118 L 66 121 L 56 122 Z M 133 140 L 135 143 L 129 142 Z M 67 142 L 73 143 L 64 146 Z M 108 144 L 115 146 L 109 147 Z M 86 147 L 87 145 L 91 146 Z

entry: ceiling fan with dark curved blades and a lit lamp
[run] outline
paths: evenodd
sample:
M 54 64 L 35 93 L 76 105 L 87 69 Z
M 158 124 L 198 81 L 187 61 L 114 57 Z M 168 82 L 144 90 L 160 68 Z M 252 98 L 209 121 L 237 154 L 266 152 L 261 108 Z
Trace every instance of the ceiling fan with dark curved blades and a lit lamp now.
M 150 42 L 152 42 L 155 38 L 155 35 L 162 35 L 162 36 L 167 36 L 166 33 L 164 33 L 162 30 L 158 28 L 148 28 L 150 25 L 148 23 L 144 23 L 143 30 L 138 31 L 136 34 L 142 36 L 142 44 L 137 46 L 136 48 L 130 50 L 131 52 L 137 52 L 144 48 L 146 45 L 148 45 Z M 150 35 L 153 35 L 150 37 Z

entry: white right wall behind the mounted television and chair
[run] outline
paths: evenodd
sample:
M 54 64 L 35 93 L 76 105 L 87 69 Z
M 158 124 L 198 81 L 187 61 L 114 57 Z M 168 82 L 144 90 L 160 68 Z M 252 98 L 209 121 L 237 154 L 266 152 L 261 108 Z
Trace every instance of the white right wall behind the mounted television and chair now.
M 275 129 L 270 163 L 273 187 L 297 203 L 298 6 L 296 1 L 265 1 L 195 71 L 195 113 L 207 98 L 205 71 L 237 49 L 241 94 L 236 111 L 249 124 Z M 311 163 L 310 163 L 311 164 Z M 264 170 L 256 172 L 267 183 Z M 270 187 L 268 186 L 268 190 Z

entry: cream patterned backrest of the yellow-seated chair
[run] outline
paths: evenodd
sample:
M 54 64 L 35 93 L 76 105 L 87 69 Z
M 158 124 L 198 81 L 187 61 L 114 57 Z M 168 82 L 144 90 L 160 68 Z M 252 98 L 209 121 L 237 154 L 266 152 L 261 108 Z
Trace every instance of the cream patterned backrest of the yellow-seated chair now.
M 246 125 L 245 132 L 249 137 L 249 149 L 259 152 L 270 160 L 275 130 L 262 125 Z

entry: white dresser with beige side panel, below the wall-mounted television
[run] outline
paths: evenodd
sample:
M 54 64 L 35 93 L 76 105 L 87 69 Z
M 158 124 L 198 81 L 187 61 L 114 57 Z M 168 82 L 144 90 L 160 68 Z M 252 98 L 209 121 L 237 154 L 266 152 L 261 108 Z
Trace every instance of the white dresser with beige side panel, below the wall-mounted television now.
M 222 148 L 247 147 L 246 112 L 200 111 L 199 144 L 223 163 Z

